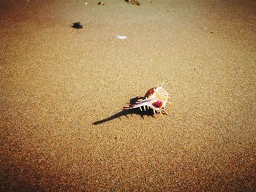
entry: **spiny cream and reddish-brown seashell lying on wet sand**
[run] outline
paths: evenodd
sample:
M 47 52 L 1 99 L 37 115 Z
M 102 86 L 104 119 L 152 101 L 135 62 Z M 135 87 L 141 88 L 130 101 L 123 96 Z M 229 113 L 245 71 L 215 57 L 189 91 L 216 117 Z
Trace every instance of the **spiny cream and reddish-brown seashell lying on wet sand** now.
M 167 99 L 169 98 L 169 94 L 167 93 L 167 91 L 165 91 L 164 88 L 162 88 L 162 85 L 157 86 L 156 88 L 149 89 L 143 100 L 137 101 L 135 104 L 129 104 L 127 106 L 124 106 L 123 110 L 135 109 L 140 107 L 140 110 L 144 109 L 146 111 L 147 107 L 147 109 L 151 108 L 154 114 L 159 112 L 160 115 L 168 115 L 168 113 L 165 111 L 165 106 L 167 103 L 170 103 L 169 101 L 167 101 Z

